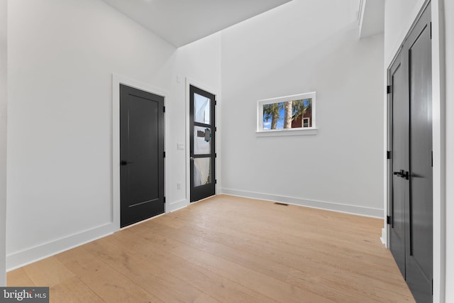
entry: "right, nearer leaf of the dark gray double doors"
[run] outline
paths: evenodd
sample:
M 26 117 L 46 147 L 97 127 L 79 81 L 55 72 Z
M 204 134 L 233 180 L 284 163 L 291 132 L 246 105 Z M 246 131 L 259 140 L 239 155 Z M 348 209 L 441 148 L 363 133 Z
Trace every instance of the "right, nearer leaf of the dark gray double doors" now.
M 432 301 L 431 7 L 409 36 L 410 205 L 406 220 L 406 282 L 417 302 Z

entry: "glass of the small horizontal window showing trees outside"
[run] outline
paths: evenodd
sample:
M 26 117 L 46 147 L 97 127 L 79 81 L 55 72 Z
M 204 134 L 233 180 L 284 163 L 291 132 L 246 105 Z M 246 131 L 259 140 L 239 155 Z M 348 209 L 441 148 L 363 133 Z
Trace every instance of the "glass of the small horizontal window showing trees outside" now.
M 311 118 L 311 98 L 263 104 L 263 129 L 265 130 L 311 127 Z

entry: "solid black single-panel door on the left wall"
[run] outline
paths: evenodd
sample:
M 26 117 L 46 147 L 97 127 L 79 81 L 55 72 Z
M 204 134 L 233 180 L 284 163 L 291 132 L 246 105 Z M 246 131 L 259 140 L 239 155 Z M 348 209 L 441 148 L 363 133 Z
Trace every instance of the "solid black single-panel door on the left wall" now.
M 121 227 L 164 212 L 164 97 L 120 85 Z

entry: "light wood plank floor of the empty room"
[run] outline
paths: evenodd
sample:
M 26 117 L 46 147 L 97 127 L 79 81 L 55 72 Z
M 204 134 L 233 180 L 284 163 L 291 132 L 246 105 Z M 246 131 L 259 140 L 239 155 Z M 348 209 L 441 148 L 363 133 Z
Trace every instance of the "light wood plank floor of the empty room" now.
M 8 273 L 50 302 L 414 302 L 382 220 L 221 195 Z

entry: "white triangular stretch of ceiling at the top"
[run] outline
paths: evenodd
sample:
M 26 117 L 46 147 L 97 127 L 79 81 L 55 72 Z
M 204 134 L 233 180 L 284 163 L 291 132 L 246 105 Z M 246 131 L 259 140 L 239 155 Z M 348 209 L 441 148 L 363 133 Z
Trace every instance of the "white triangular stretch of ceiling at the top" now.
M 104 0 L 175 47 L 292 0 Z

